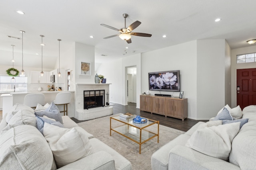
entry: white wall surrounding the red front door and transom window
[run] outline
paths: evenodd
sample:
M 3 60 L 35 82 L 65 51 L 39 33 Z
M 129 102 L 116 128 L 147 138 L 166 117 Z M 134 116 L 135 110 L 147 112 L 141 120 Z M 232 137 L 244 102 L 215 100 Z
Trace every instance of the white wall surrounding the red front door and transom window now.
M 236 70 L 243 68 L 256 68 L 255 63 L 236 64 L 236 55 L 256 53 L 256 45 L 231 50 L 231 106 L 236 107 Z

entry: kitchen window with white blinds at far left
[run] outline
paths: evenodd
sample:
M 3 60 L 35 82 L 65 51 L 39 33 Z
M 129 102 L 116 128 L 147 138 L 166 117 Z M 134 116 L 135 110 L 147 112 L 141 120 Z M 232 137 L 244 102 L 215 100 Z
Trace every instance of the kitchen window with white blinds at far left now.
M 11 82 L 12 76 L 0 76 L 0 92 L 27 92 L 28 77 L 14 77 L 15 82 Z

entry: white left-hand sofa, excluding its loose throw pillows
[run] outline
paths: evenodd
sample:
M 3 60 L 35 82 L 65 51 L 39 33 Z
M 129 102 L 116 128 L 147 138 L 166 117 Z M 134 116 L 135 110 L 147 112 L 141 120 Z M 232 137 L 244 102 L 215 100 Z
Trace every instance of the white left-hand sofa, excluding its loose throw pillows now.
M 33 116 L 35 117 L 34 111 L 30 109 L 30 107 L 28 108 L 28 106 L 20 104 L 12 110 L 16 112 L 16 114 L 18 110 L 22 110 L 21 118 L 15 120 L 16 125 L 14 125 L 13 122 L 11 123 L 13 118 L 9 120 L 8 123 L 6 122 L 8 114 L 5 114 L 3 117 L 0 123 L 0 169 L 57 169 L 56 157 L 54 157 L 51 150 L 52 148 L 49 146 L 50 144 L 48 144 L 44 135 L 36 128 L 33 118 Z M 68 116 L 62 116 L 62 121 L 64 128 L 74 129 L 74 127 L 78 127 Z M 46 128 L 46 125 L 44 128 Z M 88 156 L 60 167 L 60 170 L 132 169 L 130 161 L 105 143 L 94 138 L 93 135 L 87 133 L 84 129 L 82 130 L 84 131 L 82 133 L 88 137 L 86 140 L 89 141 L 93 152 Z M 74 146 L 76 145 L 77 144 L 74 143 Z

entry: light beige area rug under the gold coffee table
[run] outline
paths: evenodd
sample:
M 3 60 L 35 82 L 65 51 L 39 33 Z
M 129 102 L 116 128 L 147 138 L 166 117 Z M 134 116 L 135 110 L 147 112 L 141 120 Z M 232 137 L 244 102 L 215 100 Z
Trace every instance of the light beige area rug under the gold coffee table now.
M 151 170 L 152 154 L 178 135 L 185 133 L 184 131 L 159 125 L 159 143 L 157 143 L 157 137 L 147 141 L 141 145 L 141 154 L 139 154 L 139 145 L 137 143 L 114 131 L 112 131 L 112 136 L 110 136 L 110 117 L 113 116 L 116 115 L 100 117 L 98 119 L 78 123 L 78 125 L 88 133 L 94 135 L 95 138 L 122 154 L 122 156 L 132 163 L 134 170 Z M 118 122 L 112 121 L 112 125 L 116 126 Z M 157 132 L 157 125 L 150 126 L 148 130 Z

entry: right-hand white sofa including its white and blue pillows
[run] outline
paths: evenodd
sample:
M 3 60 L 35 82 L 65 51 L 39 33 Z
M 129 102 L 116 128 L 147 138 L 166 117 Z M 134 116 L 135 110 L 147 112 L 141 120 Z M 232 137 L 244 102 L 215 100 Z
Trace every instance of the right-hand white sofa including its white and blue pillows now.
M 226 105 L 210 120 L 154 152 L 152 170 L 255 170 L 256 106 Z

